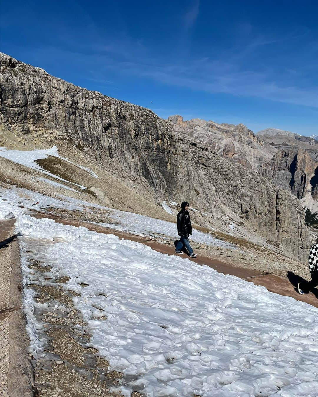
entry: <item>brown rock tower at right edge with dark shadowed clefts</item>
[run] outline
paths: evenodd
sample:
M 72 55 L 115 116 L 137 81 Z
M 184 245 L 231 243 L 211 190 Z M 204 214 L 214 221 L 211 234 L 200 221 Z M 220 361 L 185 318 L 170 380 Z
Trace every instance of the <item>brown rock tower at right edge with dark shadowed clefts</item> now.
M 308 193 L 316 196 L 318 162 L 304 149 L 281 149 L 268 163 L 261 164 L 259 175 L 291 191 L 299 199 Z

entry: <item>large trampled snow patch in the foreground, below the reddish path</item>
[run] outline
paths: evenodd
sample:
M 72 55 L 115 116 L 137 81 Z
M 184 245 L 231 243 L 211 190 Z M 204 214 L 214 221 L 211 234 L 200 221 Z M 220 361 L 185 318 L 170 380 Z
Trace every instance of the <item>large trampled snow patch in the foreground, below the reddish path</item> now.
M 313 306 L 114 235 L 29 215 L 15 225 L 22 260 L 28 245 L 47 241 L 38 259 L 81 294 L 74 303 L 92 333 L 89 346 L 123 372 L 124 395 L 318 395 Z M 25 302 L 30 322 L 32 295 Z M 35 355 L 38 329 L 30 331 Z

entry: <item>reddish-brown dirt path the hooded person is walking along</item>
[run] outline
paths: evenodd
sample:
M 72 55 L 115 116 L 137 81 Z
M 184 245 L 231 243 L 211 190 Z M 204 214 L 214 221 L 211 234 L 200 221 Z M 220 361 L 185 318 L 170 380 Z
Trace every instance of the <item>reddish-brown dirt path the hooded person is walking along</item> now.
M 74 220 L 74 219 L 66 219 L 59 216 L 54 216 L 50 214 L 41 214 L 38 212 L 34 215 L 36 218 L 52 218 L 56 220 L 56 222 L 63 223 L 65 225 L 73 225 L 73 226 L 85 226 L 89 230 L 96 231 L 98 233 L 105 234 L 114 234 L 123 239 L 129 239 L 132 241 L 138 241 L 139 243 L 149 245 L 152 249 L 158 252 L 162 252 L 163 254 L 174 254 L 174 248 L 170 245 L 160 244 L 147 237 L 140 237 L 130 233 L 119 232 L 114 229 L 108 229 L 106 227 L 101 227 L 98 225 L 91 224 L 89 222 Z M 259 270 L 251 270 L 239 266 L 233 266 L 232 264 L 227 264 L 225 262 L 221 262 L 218 260 L 212 260 L 211 258 L 207 258 L 200 255 L 200 252 L 197 251 L 197 258 L 190 259 L 192 262 L 197 263 L 198 265 L 207 265 L 213 269 L 215 269 L 219 273 L 231 274 L 232 276 L 236 276 L 242 279 L 246 279 L 247 281 L 253 282 L 255 285 L 262 285 L 268 291 L 274 292 L 280 295 L 289 296 L 297 301 L 302 301 L 305 303 L 309 303 L 312 306 L 318 307 L 318 289 L 316 296 L 313 293 L 299 295 L 297 291 L 295 291 L 295 287 L 297 286 L 298 281 L 303 280 L 300 276 L 292 272 L 288 272 L 286 277 L 280 277 L 273 274 L 266 274 L 264 272 L 260 272 Z M 186 254 L 183 257 L 188 258 Z

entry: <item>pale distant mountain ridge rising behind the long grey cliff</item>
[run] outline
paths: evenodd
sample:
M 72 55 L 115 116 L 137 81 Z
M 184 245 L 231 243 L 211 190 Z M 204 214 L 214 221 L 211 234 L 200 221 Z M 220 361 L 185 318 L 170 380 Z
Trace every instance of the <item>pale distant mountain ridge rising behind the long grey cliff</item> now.
M 243 124 L 218 124 L 214 121 L 191 119 L 183 121 L 182 116 L 169 116 L 175 131 L 188 134 L 193 139 L 209 145 L 213 152 L 223 158 L 257 171 L 262 162 L 269 161 L 277 151 L 257 137 Z

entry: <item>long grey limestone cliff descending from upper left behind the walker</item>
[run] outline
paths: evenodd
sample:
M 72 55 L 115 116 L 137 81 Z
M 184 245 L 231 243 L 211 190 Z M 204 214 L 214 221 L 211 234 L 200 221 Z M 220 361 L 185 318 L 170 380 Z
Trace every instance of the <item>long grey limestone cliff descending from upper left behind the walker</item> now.
M 306 261 L 310 238 L 297 198 L 229 160 L 240 140 L 249 139 L 251 151 L 266 147 L 243 125 L 211 128 L 194 121 L 195 133 L 184 133 L 148 109 L 76 87 L 5 54 L 1 65 L 1 117 L 7 129 L 40 145 L 75 145 L 113 174 L 143 177 L 157 195 L 186 199 L 215 218 L 233 214 L 249 230 Z M 197 128 L 216 131 L 214 138 L 202 143 Z M 217 128 L 238 136 L 235 152 Z M 257 156 L 251 167 L 261 162 L 261 153 Z

